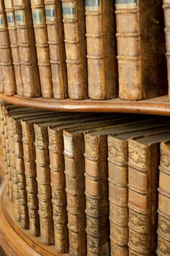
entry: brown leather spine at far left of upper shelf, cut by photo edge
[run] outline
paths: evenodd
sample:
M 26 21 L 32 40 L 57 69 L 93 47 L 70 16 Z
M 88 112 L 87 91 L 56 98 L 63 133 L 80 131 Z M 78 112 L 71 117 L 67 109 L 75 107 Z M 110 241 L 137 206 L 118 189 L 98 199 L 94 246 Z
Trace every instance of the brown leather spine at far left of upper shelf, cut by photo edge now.
M 0 1 L 0 66 L 4 83 L 4 94 L 15 94 L 15 72 L 12 65 L 12 53 L 7 30 L 7 19 L 4 11 L 4 1 Z

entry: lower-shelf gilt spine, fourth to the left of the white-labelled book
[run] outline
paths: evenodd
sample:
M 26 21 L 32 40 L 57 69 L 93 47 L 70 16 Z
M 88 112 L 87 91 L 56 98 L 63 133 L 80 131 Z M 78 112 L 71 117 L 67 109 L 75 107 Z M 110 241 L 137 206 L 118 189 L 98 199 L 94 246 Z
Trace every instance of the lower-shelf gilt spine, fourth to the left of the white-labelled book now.
M 15 149 L 15 167 L 18 180 L 18 196 L 20 204 L 20 223 L 23 229 L 29 228 L 26 176 L 23 161 L 22 127 L 20 121 L 12 118 L 13 140 Z

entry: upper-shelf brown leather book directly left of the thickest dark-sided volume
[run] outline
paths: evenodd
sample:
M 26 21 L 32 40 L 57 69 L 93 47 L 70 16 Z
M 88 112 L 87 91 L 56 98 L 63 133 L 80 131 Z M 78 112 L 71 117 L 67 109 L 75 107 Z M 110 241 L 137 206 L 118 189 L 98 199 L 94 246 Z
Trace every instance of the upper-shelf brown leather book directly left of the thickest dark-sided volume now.
M 118 78 L 113 1 L 85 0 L 85 16 L 88 96 L 92 99 L 115 98 Z

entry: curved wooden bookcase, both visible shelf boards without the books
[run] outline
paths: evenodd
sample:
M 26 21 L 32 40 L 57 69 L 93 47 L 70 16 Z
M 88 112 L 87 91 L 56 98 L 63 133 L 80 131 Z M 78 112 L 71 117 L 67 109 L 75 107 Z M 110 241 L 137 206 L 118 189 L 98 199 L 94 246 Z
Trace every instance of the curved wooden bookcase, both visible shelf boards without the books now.
M 170 101 L 168 96 L 156 97 L 136 102 L 123 99 L 110 99 L 107 101 L 85 99 L 82 101 L 64 99 L 28 99 L 24 97 L 8 97 L 0 94 L 0 99 L 6 102 L 25 107 L 42 108 L 45 110 L 58 110 L 70 112 L 104 112 L 104 113 L 145 113 L 170 116 Z M 45 246 L 39 238 L 33 238 L 28 230 L 23 230 L 15 222 L 13 209 L 4 192 L 4 183 L 0 187 L 0 244 L 9 256 L 61 256 L 55 246 Z M 68 254 L 65 254 L 68 255 Z

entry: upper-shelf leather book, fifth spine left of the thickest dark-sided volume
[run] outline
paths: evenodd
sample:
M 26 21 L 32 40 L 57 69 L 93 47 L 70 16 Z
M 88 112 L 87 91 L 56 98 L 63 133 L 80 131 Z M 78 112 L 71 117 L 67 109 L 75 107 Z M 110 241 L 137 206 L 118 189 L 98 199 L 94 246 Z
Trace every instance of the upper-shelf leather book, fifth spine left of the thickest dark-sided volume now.
M 52 98 L 53 84 L 50 67 L 50 52 L 47 42 L 47 28 L 45 24 L 45 6 L 43 2 L 43 0 L 31 0 L 31 9 L 42 96 Z

